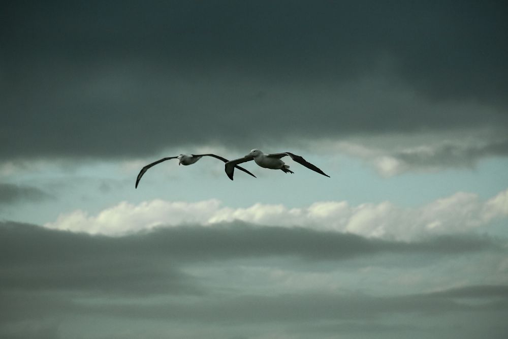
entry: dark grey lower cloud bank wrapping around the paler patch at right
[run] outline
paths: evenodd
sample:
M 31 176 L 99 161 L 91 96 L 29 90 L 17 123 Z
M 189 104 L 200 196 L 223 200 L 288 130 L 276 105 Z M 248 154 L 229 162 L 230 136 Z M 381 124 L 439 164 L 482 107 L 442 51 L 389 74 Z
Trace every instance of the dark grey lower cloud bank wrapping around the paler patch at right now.
M 229 324 L 225 333 L 236 327 L 260 330 L 261 325 L 283 326 L 294 334 L 337 332 L 354 336 L 380 331 L 387 337 L 397 333 L 427 337 L 429 331 L 431 335 L 447 337 L 456 330 L 410 321 L 391 324 L 383 321 L 395 315 L 417 314 L 430 318 L 475 317 L 484 321 L 484 325 L 477 323 L 474 331 L 494 326 L 493 337 L 501 337 L 499 333 L 507 328 L 495 319 L 508 311 L 508 287 L 504 285 L 396 296 L 346 290 L 217 294 L 217 286 L 186 272 L 199 263 L 234 265 L 238 260 L 258 260 L 266 265 L 270 258 L 277 257 L 309 264 L 390 254 L 406 259 L 412 256 L 417 263 L 420 256 L 460 257 L 488 251 L 505 249 L 497 241 L 478 236 L 406 243 L 303 228 L 261 228 L 234 223 L 161 228 L 107 237 L 3 222 L 0 333 L 13 338 L 57 337 L 58 323 L 97 316 L 176 322 L 188 324 L 189 331 L 198 324 L 214 328 Z M 150 296 L 158 296 L 160 301 L 147 301 L 153 300 Z M 173 296 L 171 301 L 164 301 L 168 296 Z M 452 317 L 451 321 L 456 320 Z M 468 337 L 468 329 L 465 325 L 458 333 Z M 478 334 L 474 331 L 470 333 Z

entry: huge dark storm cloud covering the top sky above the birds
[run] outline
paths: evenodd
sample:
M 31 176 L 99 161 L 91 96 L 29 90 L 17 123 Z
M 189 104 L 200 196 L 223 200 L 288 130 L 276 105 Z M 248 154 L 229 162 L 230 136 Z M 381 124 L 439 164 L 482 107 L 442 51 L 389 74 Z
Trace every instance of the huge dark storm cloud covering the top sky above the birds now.
M 508 125 L 501 2 L 2 7 L 1 158 Z

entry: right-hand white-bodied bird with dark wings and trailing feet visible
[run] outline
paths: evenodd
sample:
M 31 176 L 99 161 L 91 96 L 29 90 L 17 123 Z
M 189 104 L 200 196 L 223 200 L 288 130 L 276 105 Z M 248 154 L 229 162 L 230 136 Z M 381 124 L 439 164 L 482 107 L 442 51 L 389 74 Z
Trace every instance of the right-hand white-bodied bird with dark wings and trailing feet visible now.
M 283 153 L 273 153 L 273 154 L 265 154 L 259 149 L 252 149 L 248 155 L 246 155 L 243 158 L 239 158 L 236 160 L 228 161 L 225 165 L 224 170 L 226 171 L 226 174 L 228 174 L 229 178 L 233 180 L 233 174 L 235 172 L 235 167 L 238 167 L 238 164 L 245 163 L 247 161 L 255 161 L 256 164 L 258 164 L 260 167 L 263 168 L 269 168 L 269 169 L 279 169 L 284 173 L 294 173 L 289 169 L 289 165 L 284 164 L 280 158 L 283 158 L 285 156 L 291 157 L 294 161 L 297 163 L 307 167 L 308 169 L 311 169 L 319 174 L 323 174 L 324 176 L 330 177 L 328 174 L 320 170 L 319 168 L 315 167 L 311 163 L 307 162 L 305 159 L 303 159 L 300 156 L 294 155 L 290 152 L 283 152 Z

